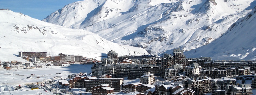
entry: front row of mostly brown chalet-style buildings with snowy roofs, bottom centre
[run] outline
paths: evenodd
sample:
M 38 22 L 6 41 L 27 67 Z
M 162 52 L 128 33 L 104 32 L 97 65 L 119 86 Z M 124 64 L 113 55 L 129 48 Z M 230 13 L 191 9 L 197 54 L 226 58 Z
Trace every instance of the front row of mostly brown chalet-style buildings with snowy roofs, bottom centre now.
M 68 80 L 69 87 L 86 88 L 86 91 L 92 95 L 113 94 L 122 91 L 134 95 L 195 95 L 195 91 L 190 88 L 184 88 L 181 84 L 158 84 L 151 85 L 154 80 L 154 74 L 145 73 L 140 79 L 140 83 L 124 84 L 124 78 L 111 78 L 111 75 L 100 75 L 98 78 L 90 74 L 79 73 Z

